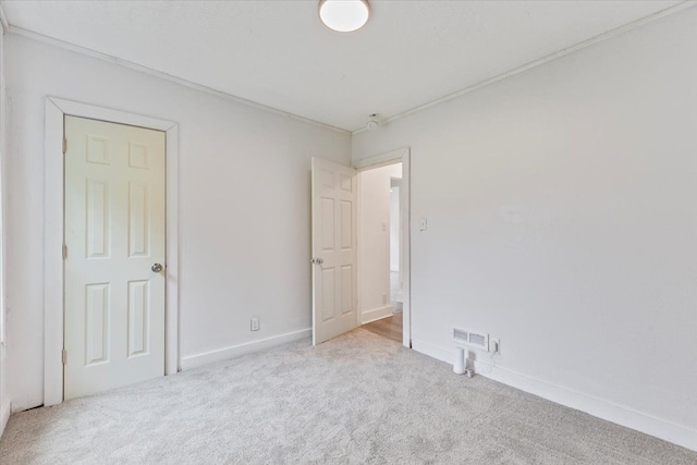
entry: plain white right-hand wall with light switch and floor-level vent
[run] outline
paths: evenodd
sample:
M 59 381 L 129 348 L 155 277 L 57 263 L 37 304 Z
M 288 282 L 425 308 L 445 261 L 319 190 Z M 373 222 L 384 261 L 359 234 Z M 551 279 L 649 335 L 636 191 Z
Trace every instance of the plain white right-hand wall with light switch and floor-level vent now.
M 697 449 L 697 9 L 356 134 L 353 159 L 403 146 L 414 347 L 488 331 L 487 376 Z

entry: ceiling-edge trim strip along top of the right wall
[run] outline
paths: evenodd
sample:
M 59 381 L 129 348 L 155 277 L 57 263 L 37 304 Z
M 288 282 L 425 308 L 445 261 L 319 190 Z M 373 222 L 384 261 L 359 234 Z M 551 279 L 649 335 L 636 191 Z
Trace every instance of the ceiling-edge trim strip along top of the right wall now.
M 412 108 L 409 110 L 406 110 L 406 111 L 403 111 L 401 113 L 394 114 L 392 117 L 386 118 L 384 120 L 380 120 L 380 124 L 381 125 L 389 124 L 389 123 L 391 123 L 393 121 L 400 120 L 402 118 L 406 118 L 406 117 L 408 117 L 411 114 L 414 114 L 414 113 L 418 113 L 419 111 L 424 111 L 424 110 L 426 110 L 426 109 L 428 109 L 430 107 L 433 107 L 436 105 L 443 103 L 445 101 L 456 99 L 458 97 L 462 97 L 465 94 L 469 94 L 469 93 L 478 90 L 478 89 L 480 89 L 482 87 L 486 87 L 486 86 L 489 86 L 491 84 L 498 83 L 499 81 L 503 81 L 505 78 L 515 76 L 516 74 L 521 74 L 521 73 L 523 73 L 525 71 L 531 70 L 533 68 L 540 66 L 540 65 L 542 65 L 545 63 L 548 63 L 550 61 L 553 61 L 553 60 L 559 59 L 559 58 L 565 57 L 565 56 L 567 56 L 570 53 L 574 53 L 574 52 L 576 52 L 578 50 L 585 49 L 586 47 L 590 47 L 590 46 L 592 46 L 595 44 L 599 44 L 599 42 L 601 42 L 603 40 L 608 40 L 608 39 L 610 39 L 612 37 L 615 37 L 615 36 L 619 36 L 621 34 L 627 33 L 627 32 L 629 32 L 632 29 L 636 29 L 637 27 L 641 27 L 644 25 L 653 23 L 655 21 L 661 20 L 661 19 L 663 19 L 663 17 L 665 17 L 668 15 L 674 14 L 674 13 L 678 13 L 678 12 L 681 12 L 681 11 L 687 9 L 687 8 L 694 7 L 696 4 L 697 4 L 697 1 L 695 1 L 695 0 L 683 1 L 681 3 L 677 3 L 675 5 L 667 8 L 664 10 L 658 11 L 658 12 L 656 12 L 653 14 L 650 14 L 648 16 L 645 16 L 645 17 L 641 17 L 639 20 L 636 20 L 636 21 L 634 21 L 632 23 L 625 24 L 624 26 L 615 27 L 614 29 L 610 29 L 610 30 L 608 30 L 606 33 L 599 34 L 599 35 L 597 35 L 595 37 L 591 37 L 591 38 L 589 38 L 587 40 L 578 42 L 578 44 L 576 44 L 574 46 L 567 47 L 565 49 L 555 51 L 553 53 L 550 53 L 550 54 L 548 54 L 546 57 L 542 57 L 542 58 L 539 58 L 537 60 L 530 61 L 529 63 L 523 64 L 522 66 L 514 68 L 513 70 L 506 71 L 505 73 L 498 74 L 496 76 L 489 77 L 489 78 L 487 78 L 485 81 L 481 81 L 481 82 L 479 82 L 477 84 L 474 84 L 472 86 L 465 87 L 465 88 L 456 90 L 456 91 L 454 91 L 452 94 L 448 94 L 448 95 L 445 95 L 443 97 L 440 97 L 440 98 L 437 98 L 435 100 L 431 100 L 431 101 L 429 101 L 427 103 L 419 105 L 419 106 L 414 107 L 414 108 Z M 364 131 L 367 131 L 367 129 L 365 126 L 360 126 L 360 127 L 352 131 L 351 133 L 353 135 L 355 135 L 355 134 L 360 134 Z

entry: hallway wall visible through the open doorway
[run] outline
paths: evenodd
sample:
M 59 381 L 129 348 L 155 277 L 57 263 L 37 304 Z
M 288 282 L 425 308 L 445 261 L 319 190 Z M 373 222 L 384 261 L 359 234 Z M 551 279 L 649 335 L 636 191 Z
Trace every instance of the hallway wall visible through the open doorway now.
M 392 314 L 390 179 L 401 176 L 402 163 L 358 173 L 358 301 L 362 323 Z

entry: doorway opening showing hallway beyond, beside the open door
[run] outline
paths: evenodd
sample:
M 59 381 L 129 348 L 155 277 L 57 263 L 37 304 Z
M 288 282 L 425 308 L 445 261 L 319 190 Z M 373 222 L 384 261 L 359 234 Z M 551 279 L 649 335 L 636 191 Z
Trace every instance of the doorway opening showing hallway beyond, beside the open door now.
M 403 341 L 402 163 L 358 172 L 358 319 L 376 334 Z

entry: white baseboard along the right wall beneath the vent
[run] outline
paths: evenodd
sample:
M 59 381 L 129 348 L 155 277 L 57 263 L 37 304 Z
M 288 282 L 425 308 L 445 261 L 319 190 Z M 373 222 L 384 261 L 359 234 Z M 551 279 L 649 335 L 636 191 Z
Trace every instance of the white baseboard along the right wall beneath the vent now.
M 412 347 L 416 352 L 451 365 L 455 356 L 454 347 L 447 350 L 423 341 L 413 340 Z M 474 365 L 477 375 L 502 382 L 521 391 L 529 392 L 548 401 L 585 412 L 595 417 L 697 451 L 697 431 L 694 429 L 637 412 L 626 405 L 620 405 L 614 402 L 587 395 L 480 360 L 476 360 Z

